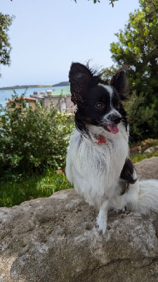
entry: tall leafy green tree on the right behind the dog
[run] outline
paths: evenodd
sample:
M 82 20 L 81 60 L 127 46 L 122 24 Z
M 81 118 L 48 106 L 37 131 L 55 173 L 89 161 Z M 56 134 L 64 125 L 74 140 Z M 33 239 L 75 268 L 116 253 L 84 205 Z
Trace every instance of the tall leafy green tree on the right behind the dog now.
M 158 137 L 158 0 L 139 3 L 142 9 L 129 14 L 124 30 L 116 34 L 118 42 L 110 45 L 117 68 L 129 65 L 127 77 L 134 94 L 129 117 L 135 139 Z

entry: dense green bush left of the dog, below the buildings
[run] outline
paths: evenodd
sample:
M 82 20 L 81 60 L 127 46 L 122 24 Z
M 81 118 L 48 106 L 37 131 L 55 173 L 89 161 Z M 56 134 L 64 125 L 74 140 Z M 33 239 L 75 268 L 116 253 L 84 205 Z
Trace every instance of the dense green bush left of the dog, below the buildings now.
M 0 116 L 0 177 L 65 168 L 71 118 L 53 104 L 50 108 L 37 104 L 33 110 L 24 95 L 14 98 Z

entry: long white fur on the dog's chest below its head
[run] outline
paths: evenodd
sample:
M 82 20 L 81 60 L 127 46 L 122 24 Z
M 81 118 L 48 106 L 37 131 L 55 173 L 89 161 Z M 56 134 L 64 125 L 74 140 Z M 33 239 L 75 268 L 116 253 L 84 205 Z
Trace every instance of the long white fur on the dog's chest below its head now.
M 128 133 L 121 123 L 119 133 L 113 135 L 103 130 L 106 142 L 96 144 L 74 130 L 67 153 L 66 174 L 75 190 L 89 204 L 100 206 L 115 197 L 119 176 L 128 156 Z M 96 131 L 95 131 L 96 130 Z M 91 126 L 92 136 L 100 128 Z

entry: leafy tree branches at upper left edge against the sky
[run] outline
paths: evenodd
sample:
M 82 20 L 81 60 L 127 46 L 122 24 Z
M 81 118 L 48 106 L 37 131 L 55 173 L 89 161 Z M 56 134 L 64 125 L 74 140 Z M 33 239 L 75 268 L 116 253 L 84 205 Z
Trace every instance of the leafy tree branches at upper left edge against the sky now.
M 11 44 L 9 42 L 7 32 L 14 18 L 14 16 L 4 15 L 3 13 L 0 13 L 0 66 L 10 66 L 11 64 Z

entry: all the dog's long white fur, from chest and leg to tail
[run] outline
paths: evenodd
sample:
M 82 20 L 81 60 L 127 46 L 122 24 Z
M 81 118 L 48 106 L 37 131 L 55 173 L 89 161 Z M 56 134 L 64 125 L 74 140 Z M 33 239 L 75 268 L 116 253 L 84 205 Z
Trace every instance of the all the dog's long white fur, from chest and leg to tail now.
M 158 180 L 137 180 L 126 194 L 119 195 L 119 177 L 129 155 L 129 130 L 122 123 L 118 128 L 119 133 L 113 134 L 88 125 L 91 139 L 74 130 L 67 152 L 67 178 L 88 204 L 98 206 L 96 226 L 101 233 L 107 228 L 108 209 L 129 207 L 143 214 L 149 209 L 158 211 Z M 105 136 L 106 142 L 97 144 L 95 135 Z

